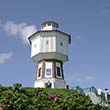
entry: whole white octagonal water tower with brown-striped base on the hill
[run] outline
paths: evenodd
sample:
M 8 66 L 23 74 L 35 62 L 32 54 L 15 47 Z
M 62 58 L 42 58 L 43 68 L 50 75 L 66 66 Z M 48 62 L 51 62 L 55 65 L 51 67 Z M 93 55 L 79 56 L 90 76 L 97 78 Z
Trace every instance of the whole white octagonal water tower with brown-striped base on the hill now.
M 56 22 L 46 21 L 40 31 L 29 37 L 31 58 L 37 63 L 35 88 L 66 88 L 63 64 L 68 61 L 71 36 L 58 27 Z

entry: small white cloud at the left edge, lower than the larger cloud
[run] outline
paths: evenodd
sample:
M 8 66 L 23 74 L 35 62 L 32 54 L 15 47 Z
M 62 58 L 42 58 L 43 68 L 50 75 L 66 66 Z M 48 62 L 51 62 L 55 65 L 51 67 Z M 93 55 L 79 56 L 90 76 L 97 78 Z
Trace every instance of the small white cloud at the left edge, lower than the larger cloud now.
M 0 53 L 0 64 L 6 63 L 11 57 L 13 53 Z

